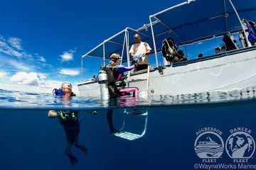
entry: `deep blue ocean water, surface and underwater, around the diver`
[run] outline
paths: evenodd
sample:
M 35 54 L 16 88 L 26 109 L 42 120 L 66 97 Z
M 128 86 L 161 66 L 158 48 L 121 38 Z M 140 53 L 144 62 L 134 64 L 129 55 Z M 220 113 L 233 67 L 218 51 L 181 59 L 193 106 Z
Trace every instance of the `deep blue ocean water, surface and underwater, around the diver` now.
M 109 102 L 1 90 L 0 169 L 256 169 L 255 89 Z M 74 166 L 62 125 L 47 116 L 53 109 L 80 111 L 88 153 L 73 147 Z

